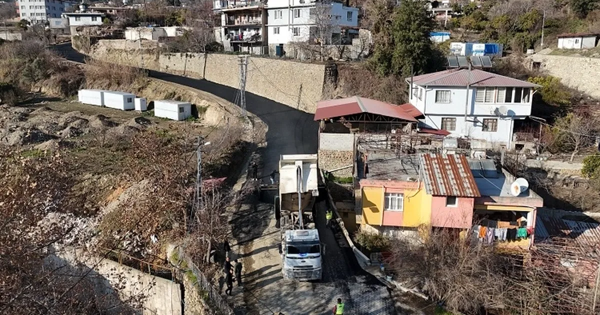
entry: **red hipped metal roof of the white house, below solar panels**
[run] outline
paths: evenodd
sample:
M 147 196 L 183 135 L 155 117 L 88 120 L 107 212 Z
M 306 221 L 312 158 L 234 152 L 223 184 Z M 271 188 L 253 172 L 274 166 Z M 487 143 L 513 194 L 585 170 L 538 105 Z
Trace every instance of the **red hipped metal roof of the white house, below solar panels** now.
M 406 78 L 410 82 L 410 77 Z M 500 76 L 483 70 L 474 69 L 450 69 L 434 73 L 422 74 L 412 78 L 413 83 L 420 86 L 512 86 L 517 88 L 536 88 L 540 85 L 514 79 L 512 77 Z

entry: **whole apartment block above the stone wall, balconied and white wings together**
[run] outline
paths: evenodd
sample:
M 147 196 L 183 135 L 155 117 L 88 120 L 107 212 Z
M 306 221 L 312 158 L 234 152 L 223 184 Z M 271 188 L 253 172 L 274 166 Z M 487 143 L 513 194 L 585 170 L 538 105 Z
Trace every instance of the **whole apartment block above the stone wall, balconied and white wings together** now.
M 341 2 L 215 0 L 214 10 L 221 12 L 226 50 L 281 55 L 284 44 L 339 44 L 343 34 L 358 36 L 358 8 Z

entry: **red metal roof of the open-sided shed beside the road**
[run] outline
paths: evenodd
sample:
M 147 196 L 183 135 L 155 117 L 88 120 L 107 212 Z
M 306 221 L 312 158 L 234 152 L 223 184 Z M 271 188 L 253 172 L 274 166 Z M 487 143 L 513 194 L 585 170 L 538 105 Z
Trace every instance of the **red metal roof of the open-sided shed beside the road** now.
M 383 101 L 371 100 L 370 98 L 353 96 L 317 102 L 314 120 L 319 121 L 321 119 L 349 116 L 359 113 L 371 113 L 412 122 L 416 122 L 416 118 L 423 115 L 412 104 L 402 104 L 398 106 Z

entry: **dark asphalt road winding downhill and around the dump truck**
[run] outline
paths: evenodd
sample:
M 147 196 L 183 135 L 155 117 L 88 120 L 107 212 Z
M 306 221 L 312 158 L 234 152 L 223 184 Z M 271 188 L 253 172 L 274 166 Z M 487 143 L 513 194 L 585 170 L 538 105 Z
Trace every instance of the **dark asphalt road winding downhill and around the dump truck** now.
M 85 55 L 74 50 L 71 43 L 53 46 L 52 49 L 70 61 L 85 62 Z M 232 103 L 237 92 L 237 89 L 229 86 L 175 74 L 149 71 L 149 76 L 190 86 L 217 95 Z M 259 174 L 259 176 L 268 178 L 271 171 L 277 169 L 281 154 L 313 154 L 317 152 L 318 124 L 313 121 L 313 114 L 248 92 L 246 102 L 247 110 L 268 125 L 267 146 L 260 151 L 262 175 Z M 259 202 L 255 207 L 250 213 L 240 214 L 241 217 L 245 217 L 244 221 L 252 221 L 252 223 L 250 226 L 241 227 L 244 230 L 248 229 L 248 233 L 240 233 L 238 242 L 253 242 L 251 239 L 258 241 L 261 237 L 265 238 L 266 235 L 276 233 L 274 218 L 272 218 L 272 203 Z M 261 296 L 261 298 L 257 298 L 257 303 L 261 305 L 257 305 L 255 309 L 260 309 L 258 313 L 261 314 L 272 310 L 284 310 L 285 314 L 320 314 L 324 310 L 327 313 L 329 307 L 333 305 L 332 302 L 341 297 L 347 303 L 349 312 L 352 310 L 352 314 L 394 314 L 394 307 L 392 307 L 391 297 L 386 287 L 360 268 L 352 249 L 346 244 L 346 239 L 341 232 L 334 234 L 325 227 L 326 205 L 324 200 L 317 203 L 317 208 L 319 209 L 317 209 L 316 227 L 326 248 L 326 253 L 323 255 L 323 264 L 325 265 L 323 266 L 323 283 L 298 283 L 292 286 L 284 283 L 280 277 L 280 268 L 275 266 L 280 264 L 281 260 L 275 253 L 277 240 L 267 239 L 263 244 L 263 251 L 268 250 L 273 254 L 265 257 L 266 260 L 263 263 L 259 263 L 258 256 L 253 259 L 256 260 L 256 269 L 262 271 L 253 277 L 255 293 Z M 248 217 L 253 218 L 247 220 Z M 235 229 L 235 220 L 232 223 Z M 234 232 L 234 236 L 235 234 Z M 251 236 L 251 239 L 248 239 L 248 236 Z M 248 256 L 256 252 L 254 248 L 248 249 Z M 271 269 L 274 268 L 274 270 L 266 272 L 266 267 L 272 267 Z M 278 271 L 274 272 L 275 270 Z M 287 290 L 284 290 L 284 287 Z M 281 302 L 285 298 L 287 298 L 286 305 L 281 307 Z M 302 307 L 299 307 L 300 304 Z

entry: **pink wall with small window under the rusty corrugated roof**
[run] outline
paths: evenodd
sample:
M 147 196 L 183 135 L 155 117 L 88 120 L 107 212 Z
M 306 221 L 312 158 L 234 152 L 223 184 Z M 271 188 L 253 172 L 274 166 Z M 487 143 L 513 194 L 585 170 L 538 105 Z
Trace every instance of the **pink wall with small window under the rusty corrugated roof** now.
M 473 198 L 457 198 L 457 206 L 446 206 L 446 197 L 431 199 L 431 226 L 468 229 L 473 224 Z

